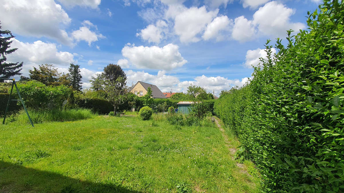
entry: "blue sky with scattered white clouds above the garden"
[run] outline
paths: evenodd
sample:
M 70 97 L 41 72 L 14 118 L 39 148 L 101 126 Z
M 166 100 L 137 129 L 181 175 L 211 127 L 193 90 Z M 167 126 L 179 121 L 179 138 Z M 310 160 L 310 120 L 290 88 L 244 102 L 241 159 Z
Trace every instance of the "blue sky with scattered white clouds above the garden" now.
M 24 61 L 67 72 L 80 65 L 83 87 L 109 64 L 119 64 L 128 84 L 156 84 L 163 92 L 190 84 L 215 94 L 242 86 L 265 57 L 266 39 L 307 29 L 307 11 L 319 0 L 31 0 L 0 5 L 3 30 Z

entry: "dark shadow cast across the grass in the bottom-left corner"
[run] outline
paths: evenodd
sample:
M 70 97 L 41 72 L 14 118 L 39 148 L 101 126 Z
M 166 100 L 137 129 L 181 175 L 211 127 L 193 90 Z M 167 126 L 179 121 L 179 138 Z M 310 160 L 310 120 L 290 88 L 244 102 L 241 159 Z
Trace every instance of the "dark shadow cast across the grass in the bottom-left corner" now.
M 115 184 L 94 183 L 64 175 L 26 168 L 0 160 L 0 192 L 128 192 Z

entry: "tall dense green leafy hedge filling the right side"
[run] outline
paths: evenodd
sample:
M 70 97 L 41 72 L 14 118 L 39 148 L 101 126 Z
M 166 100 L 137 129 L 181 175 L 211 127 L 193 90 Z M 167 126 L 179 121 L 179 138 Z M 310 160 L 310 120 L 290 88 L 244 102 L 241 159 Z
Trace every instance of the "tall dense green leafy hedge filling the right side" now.
M 308 13 L 308 31 L 277 39 L 254 78 L 215 113 L 255 162 L 266 192 L 344 192 L 344 4 Z M 319 13 L 318 13 L 319 12 Z

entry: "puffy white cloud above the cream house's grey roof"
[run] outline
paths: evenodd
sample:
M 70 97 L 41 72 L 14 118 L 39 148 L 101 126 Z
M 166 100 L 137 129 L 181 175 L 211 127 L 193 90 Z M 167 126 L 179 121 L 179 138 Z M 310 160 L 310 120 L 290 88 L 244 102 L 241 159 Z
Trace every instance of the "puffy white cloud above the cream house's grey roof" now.
M 126 45 L 122 55 L 138 68 L 171 70 L 187 63 L 179 53 L 179 46 L 174 44 L 164 47 Z

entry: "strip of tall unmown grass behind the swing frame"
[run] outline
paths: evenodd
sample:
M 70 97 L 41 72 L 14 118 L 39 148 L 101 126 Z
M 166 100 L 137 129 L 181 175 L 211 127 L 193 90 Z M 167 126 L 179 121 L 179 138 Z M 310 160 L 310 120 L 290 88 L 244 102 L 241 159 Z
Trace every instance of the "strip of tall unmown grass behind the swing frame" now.
M 33 123 L 53 122 L 53 121 L 76 121 L 86 118 L 92 118 L 94 114 L 87 109 L 50 109 L 50 110 L 28 110 Z M 15 117 L 14 121 L 19 123 L 30 123 L 25 111 L 20 111 Z

